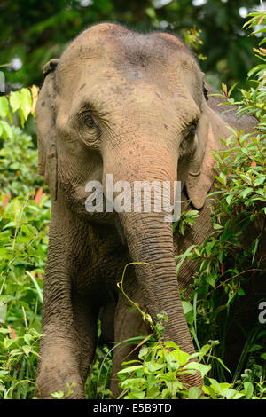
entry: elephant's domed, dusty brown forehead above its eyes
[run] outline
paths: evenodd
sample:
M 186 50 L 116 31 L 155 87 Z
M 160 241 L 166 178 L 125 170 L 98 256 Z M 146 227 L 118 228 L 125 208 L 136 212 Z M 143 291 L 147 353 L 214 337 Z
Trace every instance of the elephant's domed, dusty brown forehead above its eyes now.
M 127 100 L 132 103 L 132 99 L 137 103 L 141 98 L 143 104 L 144 95 L 148 101 L 155 95 L 165 104 L 174 96 L 187 102 L 185 73 L 200 96 L 200 71 L 175 36 L 142 35 L 100 24 L 79 35 L 62 55 L 57 70 L 60 102 L 69 106 L 71 97 L 77 108 L 88 98 L 103 107 L 111 102 L 115 106 Z

